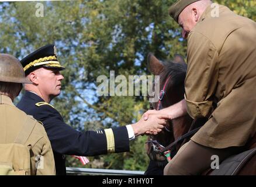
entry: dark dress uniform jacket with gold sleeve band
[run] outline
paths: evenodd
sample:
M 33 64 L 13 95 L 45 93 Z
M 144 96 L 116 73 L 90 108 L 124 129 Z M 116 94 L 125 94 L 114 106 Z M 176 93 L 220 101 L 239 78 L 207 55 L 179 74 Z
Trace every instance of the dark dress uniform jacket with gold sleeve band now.
M 93 156 L 129 151 L 129 137 L 125 126 L 77 131 L 63 121 L 63 117 L 53 106 L 32 92 L 25 92 L 17 106 L 43 123 L 53 148 L 56 175 L 66 174 L 65 154 Z

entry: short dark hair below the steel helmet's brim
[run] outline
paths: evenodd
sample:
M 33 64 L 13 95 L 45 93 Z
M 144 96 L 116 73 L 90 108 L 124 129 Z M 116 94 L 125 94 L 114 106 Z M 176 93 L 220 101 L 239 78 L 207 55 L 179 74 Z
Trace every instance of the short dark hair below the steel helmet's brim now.
M 19 95 L 22 89 L 22 84 L 15 82 L 2 82 L 0 81 L 0 93 L 15 98 Z

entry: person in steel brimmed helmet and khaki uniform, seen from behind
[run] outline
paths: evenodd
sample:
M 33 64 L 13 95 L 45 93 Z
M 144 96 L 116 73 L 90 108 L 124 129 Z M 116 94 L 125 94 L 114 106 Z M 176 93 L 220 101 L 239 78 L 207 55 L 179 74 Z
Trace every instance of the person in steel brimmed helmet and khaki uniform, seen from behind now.
M 13 105 L 23 83 L 32 82 L 25 78 L 19 60 L 0 54 L 0 173 L 55 175 L 53 151 L 44 127 Z

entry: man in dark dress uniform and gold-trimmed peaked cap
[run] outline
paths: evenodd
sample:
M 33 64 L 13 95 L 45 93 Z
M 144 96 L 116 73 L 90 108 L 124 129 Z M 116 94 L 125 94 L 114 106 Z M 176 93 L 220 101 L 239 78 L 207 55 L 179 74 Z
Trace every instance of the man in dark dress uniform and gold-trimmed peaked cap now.
M 51 99 L 60 94 L 60 74 L 64 67 L 56 56 L 56 47 L 46 45 L 21 60 L 26 77 L 33 84 L 25 84 L 25 94 L 18 108 L 43 123 L 53 147 L 56 174 L 65 175 L 65 154 L 92 156 L 129 151 L 129 140 L 154 130 L 161 131 L 167 115 L 153 116 L 150 122 L 137 123 L 115 129 L 77 131 L 63 121 L 60 113 L 50 105 Z

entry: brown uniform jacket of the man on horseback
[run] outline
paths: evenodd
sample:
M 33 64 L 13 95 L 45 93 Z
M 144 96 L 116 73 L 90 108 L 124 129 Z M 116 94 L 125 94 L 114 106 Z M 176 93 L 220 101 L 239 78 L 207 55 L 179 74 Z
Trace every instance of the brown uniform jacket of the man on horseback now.
M 191 140 L 203 146 L 244 146 L 256 131 L 256 23 L 209 6 L 188 36 L 185 99 L 194 119 L 209 117 Z

